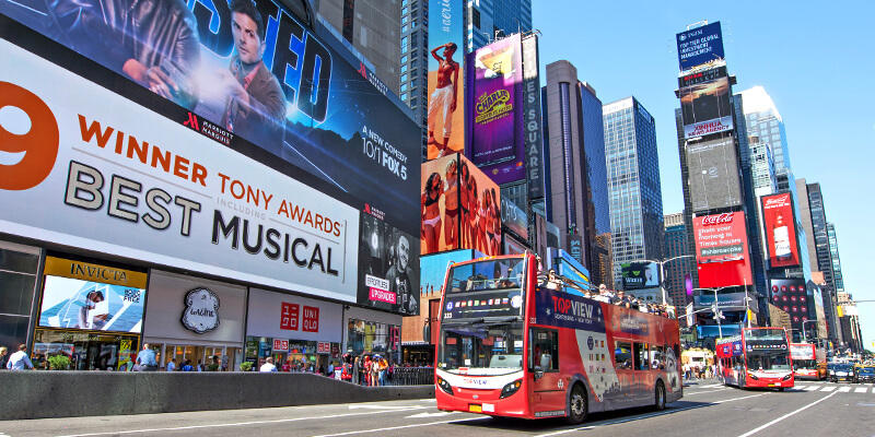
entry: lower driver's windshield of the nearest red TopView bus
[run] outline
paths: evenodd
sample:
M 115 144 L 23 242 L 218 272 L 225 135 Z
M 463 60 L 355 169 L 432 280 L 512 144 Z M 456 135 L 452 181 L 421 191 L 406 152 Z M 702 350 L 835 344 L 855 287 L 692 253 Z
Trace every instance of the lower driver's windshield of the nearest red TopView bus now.
M 522 370 L 522 319 L 442 323 L 438 367 L 471 376 L 506 375 Z

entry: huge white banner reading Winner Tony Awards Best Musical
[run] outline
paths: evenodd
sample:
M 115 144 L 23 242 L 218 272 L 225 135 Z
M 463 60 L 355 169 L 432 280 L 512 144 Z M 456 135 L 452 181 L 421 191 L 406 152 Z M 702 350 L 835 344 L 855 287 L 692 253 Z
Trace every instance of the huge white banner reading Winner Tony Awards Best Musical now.
M 0 54 L 0 107 L 26 115 L 4 123 L 26 152 L 0 175 L 4 232 L 355 302 L 355 208 L 7 40 Z

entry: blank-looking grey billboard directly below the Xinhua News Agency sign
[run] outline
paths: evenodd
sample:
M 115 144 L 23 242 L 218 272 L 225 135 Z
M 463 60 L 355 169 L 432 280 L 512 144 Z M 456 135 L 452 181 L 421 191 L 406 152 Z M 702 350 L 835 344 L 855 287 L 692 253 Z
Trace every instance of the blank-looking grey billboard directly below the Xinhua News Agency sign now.
M 738 162 L 732 137 L 688 143 L 686 153 L 693 212 L 742 204 Z

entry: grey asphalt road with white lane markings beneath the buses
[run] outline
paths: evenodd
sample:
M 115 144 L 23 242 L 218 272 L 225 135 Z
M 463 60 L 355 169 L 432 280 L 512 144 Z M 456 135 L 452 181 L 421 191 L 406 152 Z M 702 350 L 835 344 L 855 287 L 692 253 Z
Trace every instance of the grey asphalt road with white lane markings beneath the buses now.
M 23 436 L 875 436 L 875 386 L 797 381 L 785 392 L 702 381 L 663 412 L 635 409 L 561 420 L 495 420 L 438 411 L 434 400 L 0 422 Z

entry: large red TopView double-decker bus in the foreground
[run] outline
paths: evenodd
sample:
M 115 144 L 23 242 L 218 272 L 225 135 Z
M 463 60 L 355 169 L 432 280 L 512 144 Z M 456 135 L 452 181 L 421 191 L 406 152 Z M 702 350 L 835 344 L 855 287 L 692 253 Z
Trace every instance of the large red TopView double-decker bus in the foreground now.
M 580 423 L 682 395 L 677 320 L 539 283 L 530 253 L 451 265 L 441 307 L 440 410 Z

